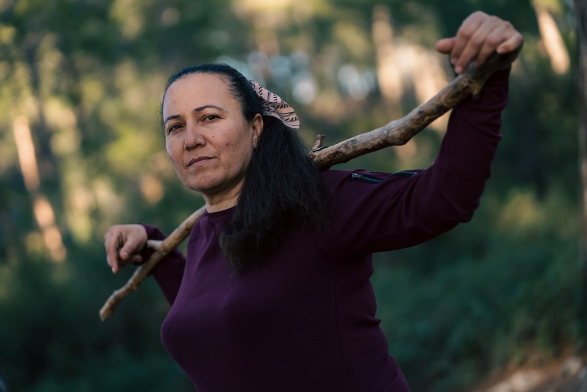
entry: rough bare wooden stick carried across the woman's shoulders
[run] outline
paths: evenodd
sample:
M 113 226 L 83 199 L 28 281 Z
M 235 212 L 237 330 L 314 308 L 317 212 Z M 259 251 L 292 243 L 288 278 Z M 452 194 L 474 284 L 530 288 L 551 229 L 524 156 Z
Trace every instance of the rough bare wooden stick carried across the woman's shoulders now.
M 516 55 L 517 53 L 491 56 L 482 66 L 468 69 L 428 102 L 421 104 L 402 119 L 392 121 L 386 126 L 325 148 L 321 148 L 324 137 L 318 135 L 308 157 L 313 159 L 320 170 L 328 170 L 332 165 L 348 162 L 352 158 L 384 147 L 403 146 L 448 110 L 471 96 L 478 96 L 492 73 L 507 68 L 511 64 L 512 56 L 515 58 Z M 156 251 L 146 263 L 136 269 L 126 285 L 110 295 L 110 298 L 100 309 L 102 321 L 112 316 L 116 305 L 124 297 L 139 289 L 140 283 L 149 275 L 154 266 L 190 234 L 191 228 L 204 211 L 205 206 L 195 211 L 163 241 L 148 241 L 147 245 Z

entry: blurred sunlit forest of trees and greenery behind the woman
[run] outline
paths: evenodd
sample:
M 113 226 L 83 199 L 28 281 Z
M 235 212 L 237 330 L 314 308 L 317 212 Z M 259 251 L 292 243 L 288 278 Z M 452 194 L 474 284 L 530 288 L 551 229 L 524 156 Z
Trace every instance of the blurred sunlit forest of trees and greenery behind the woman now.
M 378 314 L 414 391 L 464 391 L 581 352 L 578 82 L 562 0 L 0 0 L 0 372 L 12 391 L 193 391 L 153 279 L 112 319 L 112 224 L 171 231 L 203 204 L 159 105 L 180 67 L 226 62 L 296 107 L 311 146 L 397 119 L 452 79 L 434 51 L 476 10 L 511 21 L 504 140 L 473 221 L 375 257 Z M 346 167 L 426 168 L 446 117 Z

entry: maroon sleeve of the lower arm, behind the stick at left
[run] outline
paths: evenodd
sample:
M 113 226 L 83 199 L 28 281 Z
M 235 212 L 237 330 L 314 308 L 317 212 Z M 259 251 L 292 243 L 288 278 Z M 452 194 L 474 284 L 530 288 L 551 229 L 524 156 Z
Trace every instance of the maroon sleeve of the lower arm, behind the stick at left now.
M 163 234 L 158 228 L 141 224 L 147 230 L 147 239 L 163 240 L 167 235 Z M 154 253 L 154 249 L 145 247 L 141 251 L 143 261 L 147 261 Z M 174 249 L 163 260 L 161 260 L 153 269 L 153 275 L 158 285 L 163 290 L 163 294 L 170 305 L 173 305 L 177 292 L 180 288 L 181 279 L 183 278 L 185 268 L 185 257 L 180 251 Z

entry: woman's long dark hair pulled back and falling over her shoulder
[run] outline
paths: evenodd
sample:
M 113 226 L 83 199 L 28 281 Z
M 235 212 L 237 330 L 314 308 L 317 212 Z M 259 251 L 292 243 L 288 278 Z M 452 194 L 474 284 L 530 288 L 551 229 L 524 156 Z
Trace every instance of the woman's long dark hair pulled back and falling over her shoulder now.
M 247 78 L 226 64 L 187 67 L 169 78 L 165 91 L 194 73 L 222 77 L 247 121 L 262 114 Z M 263 116 L 263 123 L 232 219 L 220 233 L 222 253 L 234 272 L 264 263 L 288 229 L 325 227 L 329 220 L 332 191 L 306 156 L 299 134 L 275 117 Z

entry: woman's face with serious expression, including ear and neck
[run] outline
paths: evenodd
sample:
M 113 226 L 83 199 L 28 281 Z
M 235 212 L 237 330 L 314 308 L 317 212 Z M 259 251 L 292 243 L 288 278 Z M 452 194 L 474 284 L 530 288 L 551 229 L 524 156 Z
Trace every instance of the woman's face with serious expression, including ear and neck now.
M 163 100 L 167 154 L 181 182 L 208 207 L 232 207 L 247 173 L 263 120 L 250 123 L 220 76 L 192 74 L 171 83 Z M 208 208 L 210 211 L 210 208 Z

